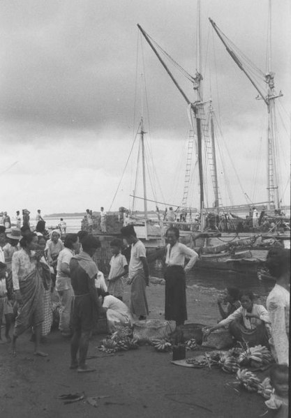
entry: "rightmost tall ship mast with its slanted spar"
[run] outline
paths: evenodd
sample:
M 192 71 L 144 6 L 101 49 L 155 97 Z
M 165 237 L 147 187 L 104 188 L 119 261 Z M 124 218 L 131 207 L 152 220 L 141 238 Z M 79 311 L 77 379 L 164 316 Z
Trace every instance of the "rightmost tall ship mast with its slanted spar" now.
M 227 52 L 230 54 L 230 57 L 234 60 L 235 64 L 245 73 L 248 80 L 251 81 L 251 84 L 258 91 L 257 99 L 264 100 L 264 103 L 267 106 L 267 116 L 268 116 L 268 129 L 267 129 L 267 142 L 268 142 L 268 154 L 267 154 L 267 199 L 268 199 L 268 209 L 271 209 L 272 204 L 275 204 L 275 208 L 280 207 L 279 200 L 279 191 L 278 191 L 278 170 L 276 165 L 276 107 L 275 100 L 278 97 L 283 96 L 280 91 L 279 94 L 276 94 L 275 84 L 274 84 L 274 75 L 275 73 L 271 70 L 271 0 L 269 0 L 269 16 L 268 16 L 268 32 L 269 32 L 269 43 L 267 49 L 267 71 L 264 75 L 264 82 L 267 84 L 267 95 L 264 95 L 262 89 L 258 87 L 257 82 L 253 80 L 253 77 L 248 70 L 245 68 L 243 62 L 240 61 L 237 54 L 231 49 L 231 46 L 227 43 L 227 38 L 216 25 L 216 23 L 209 18 L 209 21 L 214 27 L 218 38 L 221 39 L 223 45 Z

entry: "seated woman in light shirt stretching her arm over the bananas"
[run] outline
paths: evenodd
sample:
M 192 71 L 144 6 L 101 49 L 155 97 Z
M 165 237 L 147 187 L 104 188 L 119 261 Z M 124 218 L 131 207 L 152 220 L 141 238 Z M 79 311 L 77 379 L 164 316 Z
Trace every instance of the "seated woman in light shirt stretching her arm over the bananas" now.
M 230 334 L 237 341 L 246 341 L 251 347 L 258 344 L 268 347 L 269 315 L 264 306 L 254 304 L 253 300 L 252 292 L 243 292 L 240 297 L 241 307 L 209 329 L 209 334 L 228 326 Z

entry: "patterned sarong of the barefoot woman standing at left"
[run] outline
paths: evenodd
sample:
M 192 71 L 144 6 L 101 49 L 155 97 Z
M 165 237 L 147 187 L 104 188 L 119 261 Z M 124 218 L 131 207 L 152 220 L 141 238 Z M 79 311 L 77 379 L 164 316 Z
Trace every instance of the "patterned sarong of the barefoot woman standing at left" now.
M 14 336 L 20 336 L 29 327 L 37 327 L 44 320 L 43 312 L 43 278 L 41 267 L 36 267 L 20 281 L 22 304 L 15 319 Z

